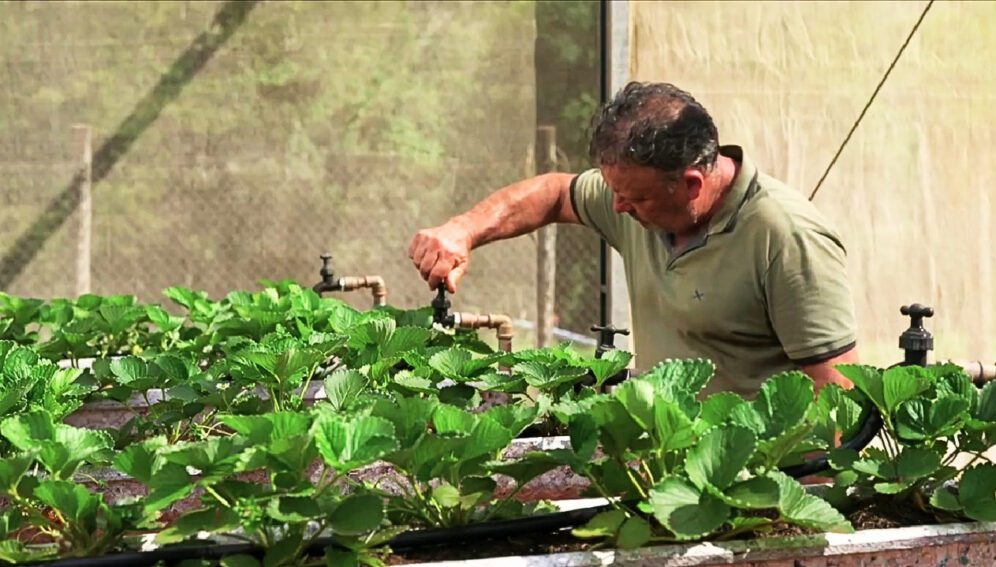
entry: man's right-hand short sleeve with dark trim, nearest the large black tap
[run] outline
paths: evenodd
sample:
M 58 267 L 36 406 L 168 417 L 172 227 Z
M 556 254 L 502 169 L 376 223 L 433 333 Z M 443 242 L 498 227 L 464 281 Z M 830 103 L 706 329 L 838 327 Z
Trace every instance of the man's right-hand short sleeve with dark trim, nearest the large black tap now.
M 816 364 L 854 348 L 857 324 L 840 240 L 819 230 L 788 235 L 768 266 L 765 299 L 785 354 Z

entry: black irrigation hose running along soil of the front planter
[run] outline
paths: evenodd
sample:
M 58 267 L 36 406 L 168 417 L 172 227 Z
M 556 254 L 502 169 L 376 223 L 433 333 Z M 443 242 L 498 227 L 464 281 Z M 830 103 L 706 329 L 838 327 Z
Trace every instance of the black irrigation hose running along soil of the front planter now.
M 858 433 L 852 439 L 842 443 L 841 447 L 860 451 L 871 442 L 881 428 L 882 416 L 872 406 Z M 793 478 L 802 478 L 824 472 L 829 468 L 828 457 L 822 455 L 800 465 L 784 467 L 780 470 Z M 633 502 L 632 504 L 633 506 L 630 507 L 635 507 L 636 503 Z M 433 545 L 551 533 L 583 525 L 598 514 L 611 509 L 611 504 L 603 504 L 601 506 L 580 508 L 567 512 L 555 512 L 540 516 L 482 522 L 467 526 L 416 530 L 396 536 L 387 545 L 394 550 L 416 549 Z M 318 538 L 308 547 L 307 553 L 309 555 L 319 555 L 328 547 L 339 548 L 340 546 L 332 538 Z M 185 544 L 163 547 L 153 551 L 116 553 L 100 557 L 80 557 L 57 559 L 54 561 L 37 561 L 26 563 L 25 565 L 45 565 L 48 567 L 145 567 L 154 566 L 161 562 L 170 565 L 188 559 L 220 559 L 240 554 L 260 558 L 264 554 L 264 549 L 250 543 L 205 546 Z

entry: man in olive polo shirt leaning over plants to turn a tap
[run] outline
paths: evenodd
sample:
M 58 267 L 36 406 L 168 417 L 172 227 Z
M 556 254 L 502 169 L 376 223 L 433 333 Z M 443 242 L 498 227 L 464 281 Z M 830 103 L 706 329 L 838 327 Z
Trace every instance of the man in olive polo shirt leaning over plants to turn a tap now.
M 709 392 L 747 397 L 791 369 L 849 386 L 833 368 L 856 361 L 845 250 L 803 195 L 720 147 L 709 113 L 666 83 L 604 105 L 590 153 L 597 169 L 514 183 L 419 231 L 408 253 L 429 287 L 455 292 L 474 248 L 580 223 L 622 255 L 638 369 L 707 358 Z

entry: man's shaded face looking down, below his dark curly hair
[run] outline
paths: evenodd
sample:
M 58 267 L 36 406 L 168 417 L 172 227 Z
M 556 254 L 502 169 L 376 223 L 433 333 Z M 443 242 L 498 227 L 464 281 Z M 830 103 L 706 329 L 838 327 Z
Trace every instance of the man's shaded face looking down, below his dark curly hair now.
M 686 170 L 677 179 L 641 165 L 604 165 L 601 171 L 612 189 L 615 212 L 630 215 L 644 228 L 682 233 L 694 228 L 698 221 L 698 171 Z

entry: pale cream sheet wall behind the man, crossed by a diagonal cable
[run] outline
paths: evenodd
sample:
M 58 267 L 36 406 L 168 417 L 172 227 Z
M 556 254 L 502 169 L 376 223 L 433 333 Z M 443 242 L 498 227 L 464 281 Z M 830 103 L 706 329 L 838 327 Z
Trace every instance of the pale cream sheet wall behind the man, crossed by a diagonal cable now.
M 630 76 L 690 91 L 808 195 L 925 5 L 630 2 Z M 849 249 L 865 361 L 901 358 L 913 302 L 937 311 L 937 357 L 996 359 L 993 21 L 935 4 L 814 199 Z

